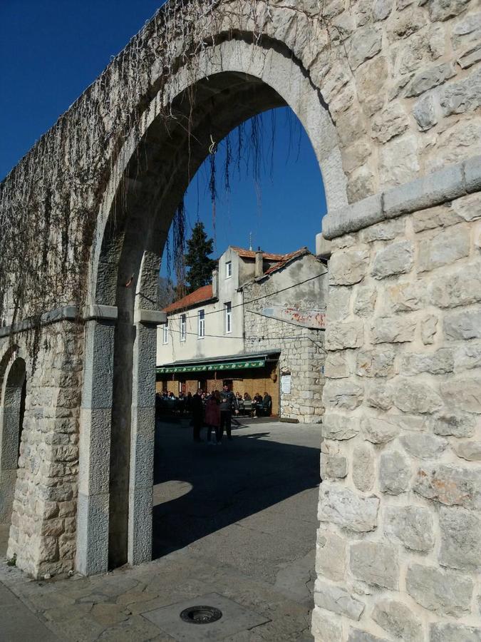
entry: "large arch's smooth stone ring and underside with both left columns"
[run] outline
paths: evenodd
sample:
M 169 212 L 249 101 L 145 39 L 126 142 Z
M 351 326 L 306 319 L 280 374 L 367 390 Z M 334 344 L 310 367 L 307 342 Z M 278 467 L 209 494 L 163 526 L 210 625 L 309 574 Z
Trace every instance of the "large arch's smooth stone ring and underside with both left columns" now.
M 312 143 L 329 205 L 347 203 L 331 116 L 285 46 L 224 41 L 193 76 L 180 68 L 163 96 L 173 118 L 159 115 L 155 96 L 138 140 L 132 135 L 119 155 L 95 237 L 89 300 L 97 316 L 87 323 L 78 499 L 84 573 L 151 556 L 157 275 L 175 209 L 211 137 L 222 140 L 247 118 L 287 105 Z M 182 118 L 191 119 L 190 132 Z

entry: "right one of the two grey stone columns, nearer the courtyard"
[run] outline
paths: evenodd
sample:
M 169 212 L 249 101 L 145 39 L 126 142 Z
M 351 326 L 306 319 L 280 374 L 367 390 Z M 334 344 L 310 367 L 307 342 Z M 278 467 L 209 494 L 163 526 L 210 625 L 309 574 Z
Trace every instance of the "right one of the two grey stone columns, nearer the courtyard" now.
M 134 322 L 128 514 L 128 563 L 131 565 L 152 559 L 155 356 L 157 325 L 165 322 L 165 312 L 137 310 Z

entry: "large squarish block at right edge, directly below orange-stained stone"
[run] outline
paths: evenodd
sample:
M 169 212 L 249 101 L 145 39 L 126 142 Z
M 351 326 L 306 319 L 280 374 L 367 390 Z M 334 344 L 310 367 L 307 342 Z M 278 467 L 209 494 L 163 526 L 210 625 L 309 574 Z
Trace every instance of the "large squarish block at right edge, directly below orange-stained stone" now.
M 442 566 L 464 571 L 481 569 L 481 519 L 474 511 L 446 508 L 439 511 Z

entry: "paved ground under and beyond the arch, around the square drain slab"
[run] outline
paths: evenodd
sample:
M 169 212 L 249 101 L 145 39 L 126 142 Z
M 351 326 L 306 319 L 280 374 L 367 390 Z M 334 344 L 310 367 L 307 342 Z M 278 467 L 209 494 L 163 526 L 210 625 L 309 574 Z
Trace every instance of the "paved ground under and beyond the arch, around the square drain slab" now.
M 319 425 L 254 420 L 217 447 L 194 444 L 190 431 L 157 425 L 158 559 L 43 582 L 2 564 L 2 640 L 172 641 L 143 613 L 206 593 L 269 619 L 227 641 L 312 640 Z

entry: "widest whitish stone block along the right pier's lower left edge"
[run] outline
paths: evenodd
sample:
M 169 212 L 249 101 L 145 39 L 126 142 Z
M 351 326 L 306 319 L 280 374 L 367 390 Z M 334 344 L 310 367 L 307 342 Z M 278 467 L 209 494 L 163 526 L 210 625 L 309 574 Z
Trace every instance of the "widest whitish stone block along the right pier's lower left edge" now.
M 337 524 L 341 528 L 368 533 L 378 524 L 379 499 L 363 497 L 347 488 L 321 484 L 319 521 Z

